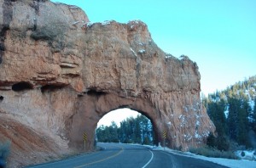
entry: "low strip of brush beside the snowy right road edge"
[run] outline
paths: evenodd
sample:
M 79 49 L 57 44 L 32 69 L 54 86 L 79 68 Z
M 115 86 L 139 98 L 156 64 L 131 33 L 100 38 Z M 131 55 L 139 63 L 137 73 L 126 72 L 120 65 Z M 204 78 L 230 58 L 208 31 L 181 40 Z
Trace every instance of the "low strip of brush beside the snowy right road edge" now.
M 227 158 L 232 160 L 237 160 L 236 154 L 231 151 L 220 151 L 216 148 L 200 147 L 200 148 L 189 148 L 189 152 L 193 154 L 200 154 L 212 158 Z

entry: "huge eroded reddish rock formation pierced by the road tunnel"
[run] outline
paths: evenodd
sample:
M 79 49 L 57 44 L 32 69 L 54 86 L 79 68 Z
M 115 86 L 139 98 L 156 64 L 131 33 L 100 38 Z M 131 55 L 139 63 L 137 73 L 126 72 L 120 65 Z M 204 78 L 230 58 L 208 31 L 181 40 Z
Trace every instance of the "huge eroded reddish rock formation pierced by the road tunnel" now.
M 215 127 L 200 100 L 195 62 L 166 55 L 142 21 L 90 23 L 75 6 L 0 2 L 0 116 L 60 145 L 93 148 L 96 124 L 113 109 L 147 115 L 171 148 L 204 142 Z

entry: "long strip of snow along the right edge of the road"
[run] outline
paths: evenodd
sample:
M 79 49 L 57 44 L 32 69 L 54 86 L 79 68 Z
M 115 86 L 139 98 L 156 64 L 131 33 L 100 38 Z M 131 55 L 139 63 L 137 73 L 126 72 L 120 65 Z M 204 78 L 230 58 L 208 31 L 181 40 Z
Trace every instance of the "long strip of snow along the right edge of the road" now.
M 171 148 L 162 148 L 162 147 L 154 147 L 153 150 L 165 150 L 166 152 L 172 154 L 183 155 L 186 157 L 196 158 L 200 160 L 207 160 L 213 163 L 217 163 L 218 165 L 224 165 L 230 168 L 256 168 L 256 161 L 249 161 L 249 160 L 230 160 L 224 158 L 208 158 L 206 156 L 196 155 L 189 152 L 181 152 L 177 150 L 173 150 Z

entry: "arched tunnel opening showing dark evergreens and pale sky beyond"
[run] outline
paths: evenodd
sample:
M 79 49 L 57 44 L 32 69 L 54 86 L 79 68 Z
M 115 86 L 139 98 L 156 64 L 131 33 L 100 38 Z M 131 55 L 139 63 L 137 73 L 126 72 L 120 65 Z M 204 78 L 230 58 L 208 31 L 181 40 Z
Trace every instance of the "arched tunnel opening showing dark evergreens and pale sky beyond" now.
M 154 125 L 143 112 L 120 107 L 97 123 L 97 143 L 140 143 L 154 145 Z

